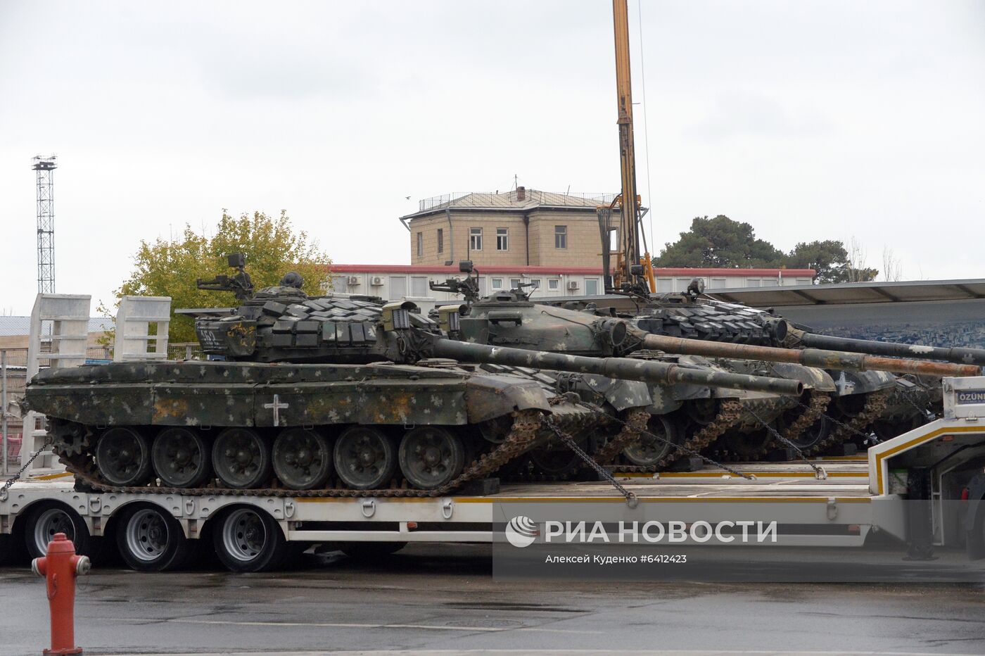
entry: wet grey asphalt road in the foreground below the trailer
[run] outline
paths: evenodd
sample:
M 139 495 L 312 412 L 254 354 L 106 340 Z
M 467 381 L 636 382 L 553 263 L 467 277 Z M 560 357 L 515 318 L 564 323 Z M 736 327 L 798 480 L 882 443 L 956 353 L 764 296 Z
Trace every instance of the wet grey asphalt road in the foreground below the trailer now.
M 96 569 L 80 580 L 76 641 L 87 654 L 985 653 L 981 585 L 500 581 L 488 546 L 311 560 L 271 574 Z M 39 579 L 0 569 L 0 601 L 0 652 L 47 646 Z

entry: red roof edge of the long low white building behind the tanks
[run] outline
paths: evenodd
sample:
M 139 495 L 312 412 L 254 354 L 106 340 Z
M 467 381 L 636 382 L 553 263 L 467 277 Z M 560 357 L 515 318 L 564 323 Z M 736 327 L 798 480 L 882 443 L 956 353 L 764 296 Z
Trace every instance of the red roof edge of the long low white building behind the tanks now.
M 476 267 L 480 274 L 528 274 L 528 275 L 586 275 L 599 274 L 599 267 L 528 267 L 528 266 L 480 266 Z M 440 264 L 332 264 L 332 273 L 405 273 L 405 274 L 444 274 L 447 276 L 459 273 L 458 266 L 442 266 Z M 769 276 L 772 278 L 813 278 L 814 269 L 683 269 L 658 268 L 654 269 L 657 276 L 702 276 L 715 278 Z M 786 289 L 786 288 L 784 288 Z

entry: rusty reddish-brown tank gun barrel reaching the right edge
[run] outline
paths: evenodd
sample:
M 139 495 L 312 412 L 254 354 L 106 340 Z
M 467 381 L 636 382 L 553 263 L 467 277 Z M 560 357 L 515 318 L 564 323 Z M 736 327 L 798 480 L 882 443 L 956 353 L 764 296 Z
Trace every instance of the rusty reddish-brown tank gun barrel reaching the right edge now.
M 879 343 L 876 342 L 875 344 Z M 806 366 L 817 366 L 822 369 L 847 369 L 850 371 L 891 371 L 893 373 L 919 373 L 933 376 L 976 376 L 981 371 L 981 367 L 974 364 L 897 360 L 845 351 L 779 349 L 652 334 L 643 338 L 643 348 L 685 356 L 794 362 Z

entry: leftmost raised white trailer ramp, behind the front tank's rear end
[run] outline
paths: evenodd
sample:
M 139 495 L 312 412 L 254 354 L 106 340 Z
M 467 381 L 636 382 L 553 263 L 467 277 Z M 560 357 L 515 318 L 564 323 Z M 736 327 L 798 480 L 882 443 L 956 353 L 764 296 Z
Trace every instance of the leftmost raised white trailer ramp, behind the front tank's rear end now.
M 89 338 L 89 306 L 92 296 L 71 294 L 38 294 L 31 310 L 31 332 L 28 338 L 28 381 L 40 369 L 42 360 L 49 366 L 79 366 L 86 361 Z M 44 345 L 48 345 L 44 349 Z M 47 431 L 44 416 L 30 412 L 24 418 L 24 441 L 21 458 L 30 458 L 41 448 Z M 43 474 L 61 469 L 50 450 L 37 456 L 29 474 Z

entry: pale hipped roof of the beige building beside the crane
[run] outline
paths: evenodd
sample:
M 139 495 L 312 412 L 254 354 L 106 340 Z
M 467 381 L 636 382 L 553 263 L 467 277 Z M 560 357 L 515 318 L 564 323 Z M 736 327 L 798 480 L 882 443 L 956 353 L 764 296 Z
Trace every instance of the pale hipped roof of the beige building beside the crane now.
M 521 187 L 522 189 L 522 187 Z M 523 196 L 521 199 L 520 196 Z M 413 214 L 401 217 L 401 221 L 414 219 L 446 209 L 508 210 L 524 211 L 537 207 L 580 208 L 594 210 L 600 205 L 609 205 L 616 194 L 585 194 L 570 192 L 540 191 L 538 189 L 513 189 L 503 193 L 453 191 L 450 194 L 432 196 L 419 201 L 419 209 Z

